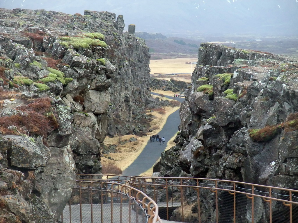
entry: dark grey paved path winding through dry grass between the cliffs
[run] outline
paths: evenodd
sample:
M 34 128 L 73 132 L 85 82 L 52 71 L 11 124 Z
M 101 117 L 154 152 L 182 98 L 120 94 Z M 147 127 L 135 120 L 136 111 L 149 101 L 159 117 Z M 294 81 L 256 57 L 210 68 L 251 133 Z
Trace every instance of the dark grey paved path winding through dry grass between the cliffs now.
M 152 93 L 152 95 L 159 95 L 156 93 Z M 184 101 L 184 98 L 174 98 L 171 96 L 165 96 L 169 99 L 178 100 L 180 102 Z M 144 150 L 140 155 L 136 158 L 136 160 L 127 167 L 123 172 L 122 175 L 124 176 L 138 176 L 141 173 L 150 169 L 155 162 L 160 158 L 160 154 L 164 151 L 165 147 L 167 147 L 167 142 L 171 139 L 178 131 L 178 125 L 180 124 L 180 117 L 179 117 L 179 109 L 176 112 L 173 112 L 167 118 L 167 122 L 165 123 L 164 127 L 161 131 L 159 131 L 160 138 L 165 138 L 164 145 L 159 145 L 159 142 L 149 142 L 145 146 Z

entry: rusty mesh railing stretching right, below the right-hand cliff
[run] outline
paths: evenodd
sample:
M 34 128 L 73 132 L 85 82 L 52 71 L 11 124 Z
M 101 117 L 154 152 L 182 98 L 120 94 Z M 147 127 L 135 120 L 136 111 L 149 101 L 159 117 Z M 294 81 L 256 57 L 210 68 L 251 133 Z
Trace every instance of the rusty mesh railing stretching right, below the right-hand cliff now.
M 132 187 L 152 195 L 162 219 L 189 223 L 298 222 L 298 190 L 204 178 L 131 179 Z

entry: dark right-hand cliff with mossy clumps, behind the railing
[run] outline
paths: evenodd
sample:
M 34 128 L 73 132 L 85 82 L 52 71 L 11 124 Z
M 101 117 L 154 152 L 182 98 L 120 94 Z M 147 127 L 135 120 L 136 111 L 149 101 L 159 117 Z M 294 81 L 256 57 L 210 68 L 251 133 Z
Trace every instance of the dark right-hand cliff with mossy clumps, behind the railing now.
M 297 189 L 297 59 L 201 44 L 160 175 Z

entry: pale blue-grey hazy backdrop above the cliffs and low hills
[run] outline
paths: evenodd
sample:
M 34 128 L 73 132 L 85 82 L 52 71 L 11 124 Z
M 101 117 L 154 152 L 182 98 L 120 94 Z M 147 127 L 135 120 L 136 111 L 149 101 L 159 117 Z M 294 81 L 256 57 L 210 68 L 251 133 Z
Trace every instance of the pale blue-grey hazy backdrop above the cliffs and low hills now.
M 126 27 L 162 34 L 298 34 L 298 0 L 0 0 L 0 8 L 123 15 Z

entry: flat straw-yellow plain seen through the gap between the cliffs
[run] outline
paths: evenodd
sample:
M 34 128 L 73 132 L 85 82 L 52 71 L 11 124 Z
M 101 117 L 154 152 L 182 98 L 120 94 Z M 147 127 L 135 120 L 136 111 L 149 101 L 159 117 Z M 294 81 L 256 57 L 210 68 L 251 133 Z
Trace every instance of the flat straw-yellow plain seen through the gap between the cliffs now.
M 198 59 L 195 58 L 150 60 L 150 75 L 159 79 L 170 80 L 170 78 L 174 78 L 175 80 L 191 82 L 191 73 L 193 73 L 196 65 L 190 64 L 190 62 L 197 61 Z

